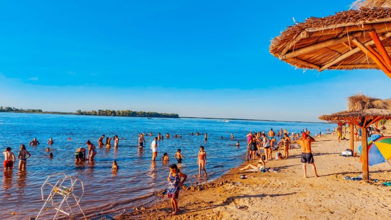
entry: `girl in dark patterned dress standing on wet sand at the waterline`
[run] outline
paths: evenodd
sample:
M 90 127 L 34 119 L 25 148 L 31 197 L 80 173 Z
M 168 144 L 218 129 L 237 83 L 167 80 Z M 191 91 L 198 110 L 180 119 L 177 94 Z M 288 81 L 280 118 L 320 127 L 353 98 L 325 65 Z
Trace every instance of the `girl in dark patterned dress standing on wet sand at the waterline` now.
M 182 177 L 183 181 L 180 181 Z M 170 166 L 170 174 L 167 178 L 167 181 L 169 181 L 167 188 L 167 198 L 171 198 L 171 205 L 173 207 L 173 212 L 171 213 L 172 216 L 178 213 L 178 203 L 176 199 L 179 196 L 179 189 L 186 179 L 187 175 L 180 173 L 176 164 L 172 164 Z

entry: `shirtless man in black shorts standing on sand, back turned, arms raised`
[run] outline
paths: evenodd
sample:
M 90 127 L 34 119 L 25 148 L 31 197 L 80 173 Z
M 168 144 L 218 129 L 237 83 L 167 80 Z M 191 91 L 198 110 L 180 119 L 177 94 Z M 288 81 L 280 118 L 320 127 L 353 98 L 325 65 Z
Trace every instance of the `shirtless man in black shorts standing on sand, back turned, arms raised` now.
M 302 147 L 302 163 L 303 163 L 304 178 L 307 177 L 307 169 L 306 169 L 307 163 L 312 166 L 312 170 L 314 171 L 315 176 L 318 177 L 318 174 L 316 173 L 314 157 L 311 153 L 311 142 L 314 141 L 315 139 L 309 136 L 305 132 L 302 134 L 302 138 L 300 138 L 297 141 L 297 143 L 300 144 L 300 146 Z

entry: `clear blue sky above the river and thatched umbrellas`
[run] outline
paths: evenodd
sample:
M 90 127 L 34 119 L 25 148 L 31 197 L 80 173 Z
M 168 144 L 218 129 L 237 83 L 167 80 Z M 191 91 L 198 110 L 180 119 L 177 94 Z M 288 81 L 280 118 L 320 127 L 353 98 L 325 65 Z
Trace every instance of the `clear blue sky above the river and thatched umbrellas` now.
M 269 44 L 351 1 L 1 1 L 0 105 L 319 121 L 356 92 L 389 98 L 391 79 L 304 72 Z

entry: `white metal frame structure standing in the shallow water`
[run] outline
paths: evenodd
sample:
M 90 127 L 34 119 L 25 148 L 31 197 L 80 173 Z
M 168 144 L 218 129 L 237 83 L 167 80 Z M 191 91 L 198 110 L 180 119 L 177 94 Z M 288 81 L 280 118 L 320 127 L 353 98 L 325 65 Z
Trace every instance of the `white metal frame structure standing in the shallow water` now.
M 36 220 L 44 210 L 49 210 L 49 206 L 57 210 L 53 220 L 56 219 L 59 212 L 68 217 L 83 214 L 84 219 L 87 220 L 82 207 L 80 207 L 80 200 L 84 195 L 83 181 L 75 176 L 68 176 L 65 173 L 48 176 L 41 186 L 41 195 L 44 203 Z M 71 199 L 68 201 L 69 198 Z M 79 207 L 80 212 L 74 213 L 72 210 L 74 207 Z

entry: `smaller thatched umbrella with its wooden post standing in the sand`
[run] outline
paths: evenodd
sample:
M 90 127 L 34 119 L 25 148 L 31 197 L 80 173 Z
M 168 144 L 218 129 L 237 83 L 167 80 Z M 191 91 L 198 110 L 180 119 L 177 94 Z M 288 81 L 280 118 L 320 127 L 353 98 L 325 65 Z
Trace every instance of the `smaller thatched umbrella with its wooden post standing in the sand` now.
M 364 180 L 369 180 L 367 129 L 371 124 L 381 119 L 391 119 L 391 110 L 389 108 L 389 103 L 385 100 L 357 94 L 348 97 L 347 111 L 319 117 L 319 119 L 326 121 L 345 120 L 361 128 Z

